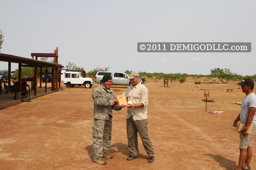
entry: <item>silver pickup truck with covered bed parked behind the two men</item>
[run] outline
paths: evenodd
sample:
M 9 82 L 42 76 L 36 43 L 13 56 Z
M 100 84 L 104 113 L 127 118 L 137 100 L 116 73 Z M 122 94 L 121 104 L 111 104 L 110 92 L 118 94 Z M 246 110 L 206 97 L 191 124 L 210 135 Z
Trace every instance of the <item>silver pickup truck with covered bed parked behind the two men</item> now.
M 101 84 L 103 76 L 107 74 L 112 75 L 112 84 L 114 85 L 127 85 L 127 86 L 131 85 L 131 82 L 128 79 L 130 74 L 122 73 L 122 72 L 98 71 L 97 74 L 95 75 L 94 82 Z

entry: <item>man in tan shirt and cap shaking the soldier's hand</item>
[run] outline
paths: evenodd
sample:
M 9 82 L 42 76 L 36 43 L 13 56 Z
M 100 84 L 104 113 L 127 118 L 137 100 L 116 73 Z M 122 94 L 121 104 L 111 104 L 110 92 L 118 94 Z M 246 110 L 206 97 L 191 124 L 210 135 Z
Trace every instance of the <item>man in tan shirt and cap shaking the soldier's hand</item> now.
M 127 88 L 123 94 L 127 101 L 126 114 L 126 130 L 128 137 L 128 149 L 130 156 L 127 160 L 138 158 L 138 138 L 139 133 L 143 146 L 149 156 L 148 162 L 154 162 L 154 148 L 148 135 L 147 128 L 147 105 L 148 105 L 148 89 L 139 81 L 139 74 L 133 71 L 128 77 L 131 81 L 131 86 Z

